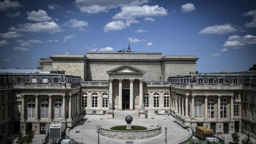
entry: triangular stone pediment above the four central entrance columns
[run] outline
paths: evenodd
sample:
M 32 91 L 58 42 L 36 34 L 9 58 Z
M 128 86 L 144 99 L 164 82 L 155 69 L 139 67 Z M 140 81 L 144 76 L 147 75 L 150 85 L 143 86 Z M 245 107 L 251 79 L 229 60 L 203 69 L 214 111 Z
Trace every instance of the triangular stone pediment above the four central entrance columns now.
M 141 74 L 145 74 L 146 72 L 141 69 L 135 68 L 129 64 L 124 64 L 124 65 L 121 65 L 120 67 L 117 67 L 117 68 L 107 71 L 107 73 L 108 74 L 111 74 L 111 73 L 141 73 Z

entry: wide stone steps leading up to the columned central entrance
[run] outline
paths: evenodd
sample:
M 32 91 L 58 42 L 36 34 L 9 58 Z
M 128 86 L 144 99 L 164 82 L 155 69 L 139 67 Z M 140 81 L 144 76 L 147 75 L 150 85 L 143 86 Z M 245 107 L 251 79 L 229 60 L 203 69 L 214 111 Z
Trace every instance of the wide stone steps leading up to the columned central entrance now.
M 124 119 L 127 115 L 131 115 L 133 119 L 139 119 L 140 114 L 137 110 L 114 110 L 114 119 Z

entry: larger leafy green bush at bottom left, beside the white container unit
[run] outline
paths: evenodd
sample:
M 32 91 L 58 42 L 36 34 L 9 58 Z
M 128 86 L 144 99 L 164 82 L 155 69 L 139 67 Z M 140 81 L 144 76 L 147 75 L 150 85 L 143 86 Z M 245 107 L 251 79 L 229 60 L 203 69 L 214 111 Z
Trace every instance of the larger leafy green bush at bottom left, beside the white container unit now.
M 27 135 L 24 135 L 23 132 L 18 132 L 18 139 L 16 141 L 17 144 L 30 144 L 33 142 L 33 138 L 35 136 L 35 131 L 28 131 Z

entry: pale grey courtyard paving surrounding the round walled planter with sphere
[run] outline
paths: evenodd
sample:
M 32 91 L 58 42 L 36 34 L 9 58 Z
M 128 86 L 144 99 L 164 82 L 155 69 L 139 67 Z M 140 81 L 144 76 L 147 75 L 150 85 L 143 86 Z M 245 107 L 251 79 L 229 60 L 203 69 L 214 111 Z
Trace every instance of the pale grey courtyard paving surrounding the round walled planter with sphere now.
M 155 119 L 151 119 L 151 117 Z M 81 118 L 86 120 L 80 121 L 72 130 L 69 131 L 70 138 L 83 138 L 83 143 L 91 144 L 97 143 L 98 133 L 96 132 L 96 125 L 100 125 L 102 128 L 110 129 L 113 126 L 126 125 L 124 119 L 106 119 L 106 115 L 86 115 Z M 103 120 L 100 120 L 103 118 Z M 164 120 L 166 119 L 166 120 Z M 89 122 L 91 121 L 91 122 Z M 175 118 L 166 115 L 148 115 L 148 119 L 133 119 L 132 125 L 140 125 L 149 128 L 150 125 L 160 125 L 162 132 L 156 137 L 144 139 L 144 140 L 115 140 L 106 138 L 100 135 L 101 144 L 113 144 L 113 143 L 126 143 L 126 141 L 133 141 L 133 143 L 147 143 L 156 144 L 165 142 L 165 130 L 167 127 L 167 143 L 180 143 L 189 138 L 189 132 L 176 124 Z M 75 133 L 80 131 L 79 133 Z M 190 134 L 191 135 L 191 134 Z M 82 142 L 81 139 L 76 139 L 78 142 Z

